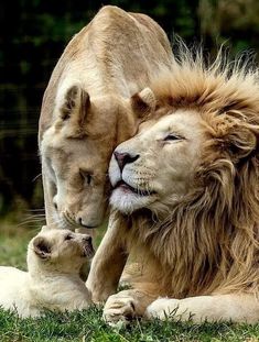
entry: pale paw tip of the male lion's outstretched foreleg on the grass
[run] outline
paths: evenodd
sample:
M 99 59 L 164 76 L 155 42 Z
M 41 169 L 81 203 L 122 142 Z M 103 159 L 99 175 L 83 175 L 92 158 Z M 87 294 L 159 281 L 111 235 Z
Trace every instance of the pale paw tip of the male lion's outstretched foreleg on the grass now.
M 173 318 L 179 310 L 179 299 L 159 298 L 147 308 L 144 317 L 147 319 L 158 318 L 160 320 Z

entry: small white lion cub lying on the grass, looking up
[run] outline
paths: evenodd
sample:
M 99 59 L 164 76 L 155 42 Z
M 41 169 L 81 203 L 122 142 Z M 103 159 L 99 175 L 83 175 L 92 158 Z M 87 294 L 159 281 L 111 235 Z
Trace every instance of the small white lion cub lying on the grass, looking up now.
M 23 318 L 86 309 L 91 300 L 79 269 L 93 255 L 89 235 L 44 227 L 29 243 L 28 272 L 0 267 L 0 307 Z

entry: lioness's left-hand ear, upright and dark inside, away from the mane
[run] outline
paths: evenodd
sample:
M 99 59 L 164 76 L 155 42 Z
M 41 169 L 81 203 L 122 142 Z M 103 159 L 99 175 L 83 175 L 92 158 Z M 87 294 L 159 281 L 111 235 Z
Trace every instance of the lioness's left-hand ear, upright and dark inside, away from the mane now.
M 63 121 L 69 120 L 74 123 L 75 129 L 83 128 L 87 111 L 90 107 L 90 97 L 80 86 L 69 87 L 64 96 L 64 102 L 60 108 L 60 117 Z

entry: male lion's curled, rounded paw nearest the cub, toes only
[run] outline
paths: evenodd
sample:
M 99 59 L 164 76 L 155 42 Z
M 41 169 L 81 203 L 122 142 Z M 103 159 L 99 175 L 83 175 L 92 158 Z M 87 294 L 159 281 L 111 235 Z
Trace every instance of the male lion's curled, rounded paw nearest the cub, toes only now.
M 117 326 L 119 322 L 129 323 L 136 318 L 134 299 L 120 294 L 110 296 L 106 301 L 102 317 L 110 326 Z

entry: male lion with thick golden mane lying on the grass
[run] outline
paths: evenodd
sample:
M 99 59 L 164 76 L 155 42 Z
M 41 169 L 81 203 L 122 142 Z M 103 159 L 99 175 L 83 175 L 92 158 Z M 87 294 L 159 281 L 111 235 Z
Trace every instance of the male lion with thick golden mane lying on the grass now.
M 94 300 L 115 293 L 127 250 L 143 275 L 108 298 L 108 322 L 258 322 L 259 70 L 220 55 L 206 67 L 185 49 L 151 89 L 155 111 L 111 159 L 114 213 L 87 282 Z

